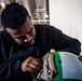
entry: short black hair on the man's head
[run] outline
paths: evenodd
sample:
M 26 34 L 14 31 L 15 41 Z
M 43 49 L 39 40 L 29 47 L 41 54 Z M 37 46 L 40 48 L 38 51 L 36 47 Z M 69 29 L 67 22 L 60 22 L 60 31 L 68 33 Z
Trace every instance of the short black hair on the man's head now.
M 29 13 L 24 5 L 12 2 L 2 10 L 1 24 L 3 28 L 17 29 L 25 23 L 27 16 L 29 17 Z

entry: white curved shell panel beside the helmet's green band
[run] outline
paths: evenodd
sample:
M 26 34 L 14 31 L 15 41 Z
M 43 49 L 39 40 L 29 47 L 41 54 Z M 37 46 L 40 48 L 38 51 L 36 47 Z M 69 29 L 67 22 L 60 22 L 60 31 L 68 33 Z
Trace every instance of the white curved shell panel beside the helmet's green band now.
M 56 58 L 56 52 L 54 53 Z M 68 52 L 57 52 L 57 54 L 59 55 L 62 62 L 63 79 L 70 79 L 70 81 L 82 81 L 82 62 L 79 59 L 79 57 Z

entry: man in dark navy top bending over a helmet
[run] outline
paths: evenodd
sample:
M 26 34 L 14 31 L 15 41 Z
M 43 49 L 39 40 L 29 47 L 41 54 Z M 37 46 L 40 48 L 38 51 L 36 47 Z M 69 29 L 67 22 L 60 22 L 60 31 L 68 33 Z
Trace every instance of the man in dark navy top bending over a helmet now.
M 41 69 L 42 58 L 51 49 L 79 55 L 79 40 L 49 25 L 32 25 L 28 11 L 11 3 L 1 13 L 0 81 L 32 80 L 31 72 Z

